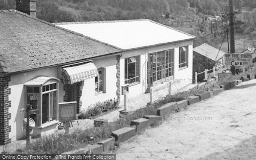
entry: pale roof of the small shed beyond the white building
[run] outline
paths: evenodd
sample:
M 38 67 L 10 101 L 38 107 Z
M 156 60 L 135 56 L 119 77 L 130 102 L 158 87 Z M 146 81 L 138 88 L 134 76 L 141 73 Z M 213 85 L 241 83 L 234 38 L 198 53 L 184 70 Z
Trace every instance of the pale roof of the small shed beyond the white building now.
M 209 44 L 201 44 L 200 46 L 193 48 L 193 51 L 198 52 L 199 54 L 204 55 L 205 57 L 210 58 L 213 61 L 218 61 L 225 55 L 225 52 L 221 50 L 219 52 L 219 49 L 212 47 Z

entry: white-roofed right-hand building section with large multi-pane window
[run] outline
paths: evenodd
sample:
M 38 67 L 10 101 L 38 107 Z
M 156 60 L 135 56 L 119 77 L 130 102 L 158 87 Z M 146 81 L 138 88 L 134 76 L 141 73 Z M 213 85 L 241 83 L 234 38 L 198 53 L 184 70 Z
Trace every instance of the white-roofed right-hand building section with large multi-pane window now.
M 193 35 L 147 19 L 54 24 L 122 49 L 120 84 L 129 87 L 129 95 L 145 93 L 163 79 L 192 83 Z

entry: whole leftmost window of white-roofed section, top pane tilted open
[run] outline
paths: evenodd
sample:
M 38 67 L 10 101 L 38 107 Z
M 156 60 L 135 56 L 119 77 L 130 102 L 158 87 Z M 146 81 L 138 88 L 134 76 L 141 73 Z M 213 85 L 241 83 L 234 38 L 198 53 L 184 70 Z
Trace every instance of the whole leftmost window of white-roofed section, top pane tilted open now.
M 140 56 L 125 58 L 125 84 L 140 82 Z

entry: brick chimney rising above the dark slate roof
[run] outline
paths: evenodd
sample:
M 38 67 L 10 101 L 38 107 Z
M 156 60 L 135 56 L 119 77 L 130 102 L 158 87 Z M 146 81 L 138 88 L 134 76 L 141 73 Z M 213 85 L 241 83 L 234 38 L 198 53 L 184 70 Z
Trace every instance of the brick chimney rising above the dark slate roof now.
M 16 0 L 16 10 L 36 17 L 36 0 Z

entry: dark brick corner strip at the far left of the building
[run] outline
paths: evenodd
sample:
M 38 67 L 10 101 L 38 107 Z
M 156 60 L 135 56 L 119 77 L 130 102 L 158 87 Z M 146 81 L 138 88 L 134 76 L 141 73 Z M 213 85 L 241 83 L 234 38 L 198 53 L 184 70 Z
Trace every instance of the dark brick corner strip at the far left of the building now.
M 9 81 L 11 81 L 9 75 L 0 74 L 0 145 L 11 142 L 9 138 L 9 133 L 11 132 L 11 126 L 9 125 L 9 120 L 11 119 L 11 113 L 9 113 L 11 88 L 9 88 Z

